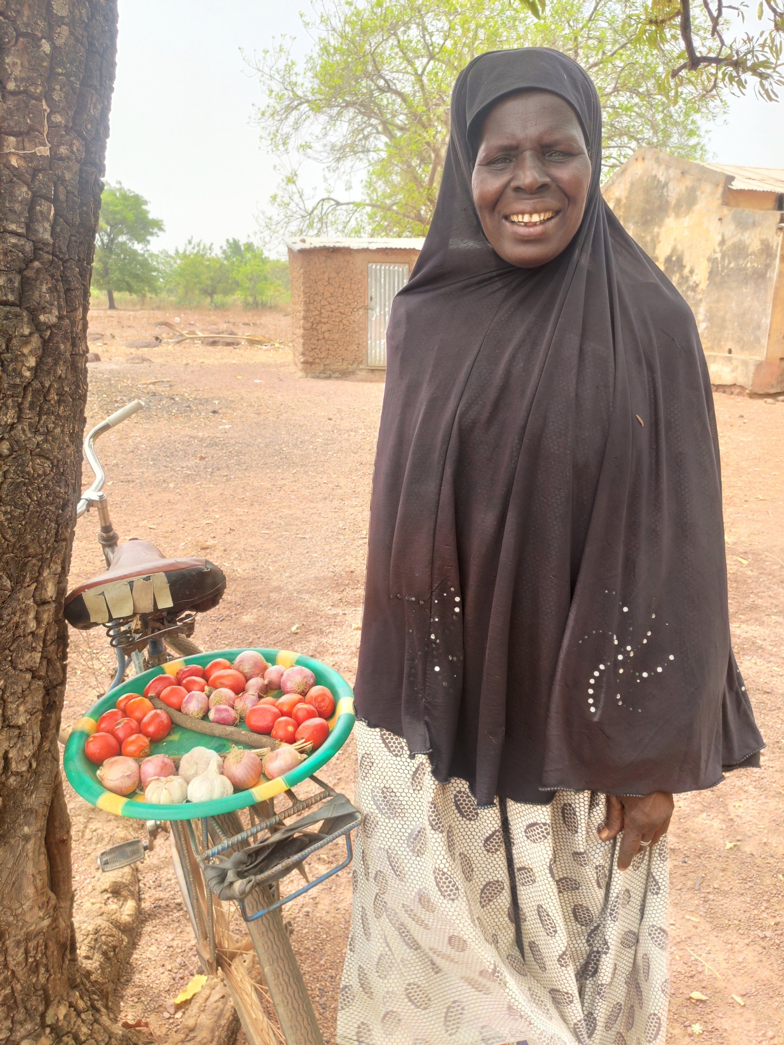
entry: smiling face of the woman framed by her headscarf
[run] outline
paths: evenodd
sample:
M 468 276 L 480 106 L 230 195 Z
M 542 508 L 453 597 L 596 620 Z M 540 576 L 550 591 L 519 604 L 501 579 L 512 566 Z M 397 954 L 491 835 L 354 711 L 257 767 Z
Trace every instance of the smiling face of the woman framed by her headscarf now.
M 580 121 L 557 94 L 512 94 L 485 117 L 471 190 L 505 261 L 533 269 L 557 257 L 579 228 L 590 182 Z

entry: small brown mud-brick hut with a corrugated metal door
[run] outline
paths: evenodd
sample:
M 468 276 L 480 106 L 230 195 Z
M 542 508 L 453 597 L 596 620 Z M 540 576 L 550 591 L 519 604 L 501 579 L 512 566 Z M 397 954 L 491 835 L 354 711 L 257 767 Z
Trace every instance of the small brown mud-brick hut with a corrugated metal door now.
M 392 299 L 423 239 L 299 237 L 286 245 L 294 358 L 313 377 L 383 372 Z

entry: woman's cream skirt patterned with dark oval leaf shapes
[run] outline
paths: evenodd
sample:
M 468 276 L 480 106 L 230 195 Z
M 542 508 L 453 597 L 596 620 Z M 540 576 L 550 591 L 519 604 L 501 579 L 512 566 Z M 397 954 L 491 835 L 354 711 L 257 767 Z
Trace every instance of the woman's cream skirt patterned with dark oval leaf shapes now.
M 619 872 L 602 794 L 480 809 L 399 737 L 355 737 L 341 1045 L 664 1045 L 666 837 Z

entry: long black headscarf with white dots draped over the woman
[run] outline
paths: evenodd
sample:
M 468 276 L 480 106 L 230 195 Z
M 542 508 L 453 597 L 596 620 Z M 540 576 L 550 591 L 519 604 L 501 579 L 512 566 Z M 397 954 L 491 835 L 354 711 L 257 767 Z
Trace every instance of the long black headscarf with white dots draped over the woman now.
M 470 188 L 488 108 L 526 89 L 572 106 L 593 170 L 577 234 L 533 270 L 490 248 Z M 694 318 L 600 170 L 580 66 L 549 48 L 471 62 L 387 334 L 358 713 L 482 805 L 707 788 L 763 746 L 730 647 Z

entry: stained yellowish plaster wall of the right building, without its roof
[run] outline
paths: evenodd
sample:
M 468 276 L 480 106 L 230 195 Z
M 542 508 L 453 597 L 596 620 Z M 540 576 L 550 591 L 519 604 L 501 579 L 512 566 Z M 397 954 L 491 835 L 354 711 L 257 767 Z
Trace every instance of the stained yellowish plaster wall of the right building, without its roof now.
M 745 357 L 727 361 L 732 376 L 751 374 L 748 357 L 765 355 L 779 249 L 778 213 L 725 206 L 727 183 L 719 171 L 643 148 L 602 189 L 691 305 L 715 384 L 725 381 L 714 373 L 721 361 L 713 356 Z

